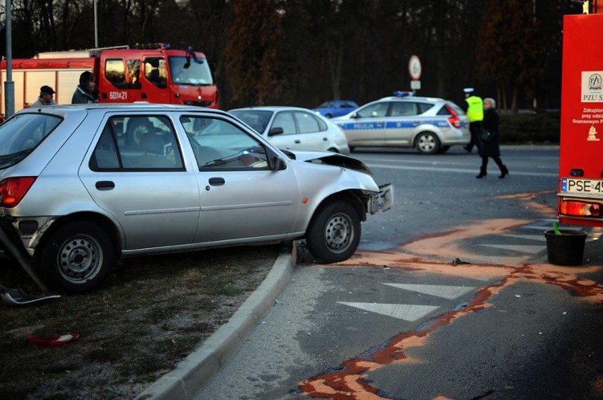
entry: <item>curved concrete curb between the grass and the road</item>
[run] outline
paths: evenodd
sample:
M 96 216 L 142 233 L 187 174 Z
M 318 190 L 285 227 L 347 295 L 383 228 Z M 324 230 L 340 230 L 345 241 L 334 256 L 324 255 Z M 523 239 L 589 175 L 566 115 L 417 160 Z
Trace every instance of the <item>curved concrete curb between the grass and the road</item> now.
M 180 361 L 176 368 L 151 384 L 135 399 L 188 400 L 239 350 L 268 308 L 287 287 L 295 266 L 294 243 L 283 247 L 268 276 L 239 310 L 194 353 Z

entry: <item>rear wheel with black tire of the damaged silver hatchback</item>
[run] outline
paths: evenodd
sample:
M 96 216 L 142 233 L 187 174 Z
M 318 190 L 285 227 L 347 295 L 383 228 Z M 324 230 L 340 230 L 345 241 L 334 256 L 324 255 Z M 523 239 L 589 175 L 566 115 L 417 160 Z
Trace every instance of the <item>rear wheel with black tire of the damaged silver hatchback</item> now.
M 114 251 L 105 230 L 88 221 L 58 228 L 37 260 L 40 277 L 60 293 L 88 293 L 98 288 L 114 264 Z

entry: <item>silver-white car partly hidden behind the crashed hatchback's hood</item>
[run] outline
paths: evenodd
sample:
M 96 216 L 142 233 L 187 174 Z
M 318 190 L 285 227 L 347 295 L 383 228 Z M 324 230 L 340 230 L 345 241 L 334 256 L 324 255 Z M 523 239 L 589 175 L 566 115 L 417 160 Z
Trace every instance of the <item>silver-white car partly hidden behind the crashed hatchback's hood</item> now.
M 345 134 L 326 117 L 300 107 L 245 107 L 229 110 L 278 148 L 350 154 Z

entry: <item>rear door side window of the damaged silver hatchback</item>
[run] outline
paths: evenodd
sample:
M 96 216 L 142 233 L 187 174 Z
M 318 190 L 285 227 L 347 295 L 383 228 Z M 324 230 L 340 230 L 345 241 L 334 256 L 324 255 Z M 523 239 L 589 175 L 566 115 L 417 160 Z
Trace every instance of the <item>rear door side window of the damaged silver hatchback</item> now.
M 111 117 L 94 148 L 93 171 L 183 171 L 176 132 L 167 117 Z

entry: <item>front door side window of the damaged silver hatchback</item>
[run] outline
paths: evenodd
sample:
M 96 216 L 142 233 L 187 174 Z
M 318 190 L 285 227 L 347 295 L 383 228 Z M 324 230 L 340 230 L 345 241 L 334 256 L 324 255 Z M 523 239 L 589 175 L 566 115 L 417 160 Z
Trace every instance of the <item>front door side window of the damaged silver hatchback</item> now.
M 269 170 L 263 144 L 224 119 L 181 117 L 200 171 Z

